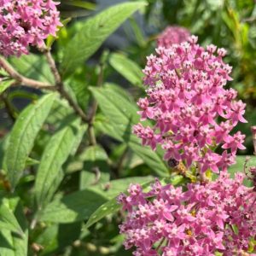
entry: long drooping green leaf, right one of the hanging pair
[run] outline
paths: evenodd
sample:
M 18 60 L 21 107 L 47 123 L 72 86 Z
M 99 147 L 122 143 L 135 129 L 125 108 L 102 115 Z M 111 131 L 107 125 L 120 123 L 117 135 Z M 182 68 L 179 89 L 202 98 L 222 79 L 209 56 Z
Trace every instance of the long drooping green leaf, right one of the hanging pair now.
M 39 207 L 42 207 L 46 199 L 50 197 L 49 189 L 55 178 L 60 175 L 61 166 L 73 150 L 73 145 L 79 134 L 79 121 L 79 119 L 71 119 L 62 122 L 63 127 L 55 132 L 44 148 L 35 183 L 35 194 Z

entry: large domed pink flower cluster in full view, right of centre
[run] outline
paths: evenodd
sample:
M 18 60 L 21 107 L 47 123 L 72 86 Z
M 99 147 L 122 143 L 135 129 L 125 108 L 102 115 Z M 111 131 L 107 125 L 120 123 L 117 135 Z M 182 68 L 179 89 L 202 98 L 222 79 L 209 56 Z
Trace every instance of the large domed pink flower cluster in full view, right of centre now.
M 148 97 L 137 102 L 141 120 L 154 120 L 154 127 L 134 125 L 133 131 L 143 145 L 153 149 L 157 144 L 166 151 L 165 160 L 192 163 L 201 172 L 226 170 L 234 163 L 237 148 L 245 136 L 230 131 L 243 118 L 246 105 L 236 101 L 236 90 L 224 89 L 231 80 L 231 67 L 225 64 L 224 49 L 208 45 L 207 49 L 189 42 L 156 49 L 148 56 L 144 84 Z M 222 154 L 213 150 L 221 145 Z

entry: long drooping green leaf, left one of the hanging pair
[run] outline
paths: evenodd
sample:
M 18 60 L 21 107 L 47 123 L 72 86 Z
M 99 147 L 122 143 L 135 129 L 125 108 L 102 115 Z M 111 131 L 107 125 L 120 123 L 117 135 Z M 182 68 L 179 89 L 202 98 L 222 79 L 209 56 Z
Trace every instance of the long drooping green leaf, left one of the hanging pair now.
M 32 150 L 34 140 L 44 124 L 54 100 L 55 94 L 43 96 L 38 102 L 30 104 L 24 109 L 15 122 L 3 160 L 13 189 L 26 166 L 26 160 Z

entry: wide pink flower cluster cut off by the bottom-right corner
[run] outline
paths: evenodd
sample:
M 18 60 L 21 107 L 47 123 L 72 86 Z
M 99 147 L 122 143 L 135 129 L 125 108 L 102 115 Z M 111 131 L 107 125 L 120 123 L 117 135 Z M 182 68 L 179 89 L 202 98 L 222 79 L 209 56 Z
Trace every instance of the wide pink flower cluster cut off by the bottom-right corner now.
M 135 256 L 246 255 L 256 236 L 255 192 L 243 175 L 226 172 L 212 183 L 190 183 L 186 192 L 156 181 L 148 193 L 131 184 L 118 201 L 127 210 L 125 248 Z M 243 254 L 244 253 L 244 254 Z

